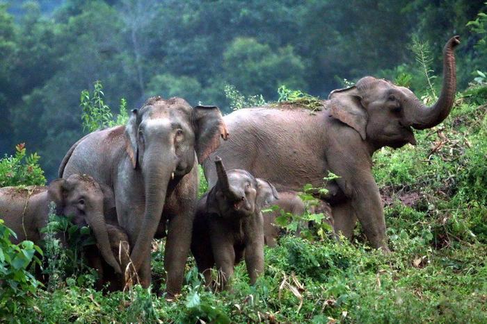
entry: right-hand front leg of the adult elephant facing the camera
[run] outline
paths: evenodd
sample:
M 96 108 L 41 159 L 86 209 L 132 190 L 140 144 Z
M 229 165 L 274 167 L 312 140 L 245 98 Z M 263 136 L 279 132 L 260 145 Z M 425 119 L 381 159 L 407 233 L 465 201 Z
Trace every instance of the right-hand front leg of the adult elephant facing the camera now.
M 175 296 L 181 291 L 184 278 L 184 267 L 191 246 L 191 230 L 193 228 L 193 209 L 186 210 L 173 216 L 168 223 L 168 236 L 164 255 L 166 268 L 166 291 L 168 297 Z

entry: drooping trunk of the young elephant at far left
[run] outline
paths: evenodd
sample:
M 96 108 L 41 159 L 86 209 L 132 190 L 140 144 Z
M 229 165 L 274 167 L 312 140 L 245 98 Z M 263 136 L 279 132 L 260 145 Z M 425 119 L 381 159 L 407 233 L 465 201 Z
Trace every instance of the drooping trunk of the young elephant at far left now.
M 102 257 L 105 259 L 106 263 L 110 264 L 113 269 L 115 269 L 115 272 L 122 273 L 120 270 L 120 264 L 118 264 L 115 255 L 113 255 L 111 251 L 109 233 L 106 230 L 104 214 L 102 212 L 88 213 L 86 221 L 93 229 L 99 252 L 102 254 Z

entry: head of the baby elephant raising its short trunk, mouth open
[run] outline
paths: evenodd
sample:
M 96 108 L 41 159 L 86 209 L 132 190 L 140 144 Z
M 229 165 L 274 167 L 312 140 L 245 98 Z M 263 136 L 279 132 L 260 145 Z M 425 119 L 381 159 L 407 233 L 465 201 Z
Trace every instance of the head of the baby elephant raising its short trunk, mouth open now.
M 209 191 L 207 212 L 221 216 L 252 216 L 276 201 L 278 191 L 266 180 L 254 178 L 248 171 L 226 171 L 220 157 L 215 158 L 218 181 Z

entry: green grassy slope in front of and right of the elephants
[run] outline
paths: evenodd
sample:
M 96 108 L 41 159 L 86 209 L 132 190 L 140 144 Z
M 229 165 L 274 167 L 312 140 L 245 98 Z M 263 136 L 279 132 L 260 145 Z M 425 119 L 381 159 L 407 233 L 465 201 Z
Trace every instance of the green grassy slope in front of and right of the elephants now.
M 278 248 L 266 248 L 266 273 L 255 287 L 248 286 L 240 264 L 232 291 L 209 293 L 191 259 L 176 302 L 143 289 L 103 296 L 71 282 L 54 293 L 41 291 L 35 307 L 18 319 L 485 323 L 487 114 L 481 104 L 458 99 L 436 133 L 417 134 L 417 147 L 383 149 L 374 156 L 390 256 L 367 248 L 360 229 L 353 244 L 283 237 Z M 160 253 L 154 259 L 160 273 Z

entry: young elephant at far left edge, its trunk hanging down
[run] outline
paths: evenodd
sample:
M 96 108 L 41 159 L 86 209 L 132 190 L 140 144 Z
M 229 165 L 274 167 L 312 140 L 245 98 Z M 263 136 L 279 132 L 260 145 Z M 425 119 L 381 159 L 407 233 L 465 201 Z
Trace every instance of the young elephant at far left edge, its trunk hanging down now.
M 90 176 L 73 174 L 54 180 L 47 187 L 1 188 L 0 217 L 17 234 L 14 243 L 28 239 L 39 244 L 43 237 L 40 230 L 47 224 L 51 201 L 56 204 L 56 214 L 74 215 L 75 224 L 90 225 L 99 253 L 120 273 L 120 266 L 111 253 L 104 219 L 104 210 L 113 206 L 113 193 Z

